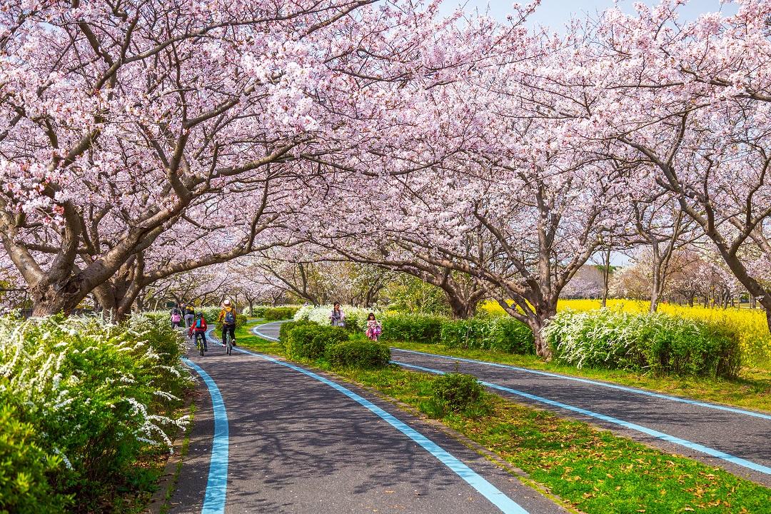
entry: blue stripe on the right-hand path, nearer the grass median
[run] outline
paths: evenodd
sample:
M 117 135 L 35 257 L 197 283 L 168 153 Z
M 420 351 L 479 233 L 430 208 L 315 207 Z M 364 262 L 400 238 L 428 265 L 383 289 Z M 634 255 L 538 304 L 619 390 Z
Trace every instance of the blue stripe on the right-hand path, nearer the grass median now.
M 404 362 L 399 362 L 399 361 L 392 361 L 392 362 L 396 365 L 403 366 L 404 368 L 417 369 L 419 371 L 427 371 L 428 373 L 433 373 L 436 375 L 446 374 L 446 371 L 440 371 L 438 369 L 423 368 L 423 366 L 406 364 Z M 748 469 L 752 469 L 753 471 L 766 473 L 766 475 L 771 475 L 771 468 L 769 468 L 768 466 L 757 464 L 756 462 L 751 462 L 746 459 L 742 459 L 740 457 L 730 455 L 726 452 L 721 452 L 720 450 L 715 450 L 715 448 L 709 448 L 709 446 L 699 445 L 699 443 L 697 442 L 690 442 L 685 439 L 675 437 L 673 435 L 665 434 L 664 432 L 658 432 L 658 430 L 653 430 L 651 428 L 647 428 L 642 425 L 625 422 L 623 419 L 613 418 L 608 415 L 600 414 L 599 412 L 588 411 L 585 408 L 574 407 L 573 405 L 567 405 L 566 403 L 550 400 L 549 398 L 543 398 L 541 396 L 531 395 L 530 393 L 526 393 L 524 391 L 517 391 L 517 389 L 503 387 L 503 385 L 491 384 L 490 382 L 481 381 L 481 380 L 480 380 L 480 384 L 488 388 L 499 389 L 500 391 L 506 391 L 513 395 L 518 395 L 518 396 L 522 396 L 523 398 L 539 401 L 540 403 L 545 403 L 546 405 L 551 405 L 552 407 L 564 408 L 567 411 L 578 412 L 579 414 L 591 416 L 592 418 L 598 418 L 604 422 L 613 423 L 614 425 L 620 425 L 624 428 L 629 428 L 630 430 L 635 430 L 637 432 L 642 432 L 643 434 L 652 435 L 653 437 L 662 439 L 666 442 L 672 442 L 675 445 L 681 445 L 681 446 L 685 446 L 685 448 L 691 448 L 692 450 L 696 450 L 697 452 L 702 452 L 712 457 L 722 459 L 726 462 L 731 462 L 732 464 L 740 465 L 743 468 L 748 468 Z

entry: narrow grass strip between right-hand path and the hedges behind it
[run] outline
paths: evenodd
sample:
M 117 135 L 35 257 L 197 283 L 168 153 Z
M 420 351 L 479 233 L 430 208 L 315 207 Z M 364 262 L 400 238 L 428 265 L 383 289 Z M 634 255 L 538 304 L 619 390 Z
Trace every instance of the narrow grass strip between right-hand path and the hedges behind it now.
M 605 370 L 559 365 L 544 362 L 535 355 L 507 354 L 500 351 L 463 350 L 445 348 L 439 344 L 390 343 L 394 348 L 426 351 L 451 357 L 472 358 L 480 361 L 497 362 L 563 375 L 614 382 L 634 388 L 648 389 L 668 395 L 678 395 L 697 400 L 713 401 L 736 407 L 771 412 L 771 371 L 743 368 L 739 378 L 668 377 L 624 370 Z

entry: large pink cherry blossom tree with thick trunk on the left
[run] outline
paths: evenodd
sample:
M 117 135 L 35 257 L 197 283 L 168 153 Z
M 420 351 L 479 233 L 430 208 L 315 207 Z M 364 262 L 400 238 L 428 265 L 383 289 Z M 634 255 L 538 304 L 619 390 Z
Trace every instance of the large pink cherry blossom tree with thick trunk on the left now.
M 250 187 L 277 167 L 315 173 L 292 163 L 375 133 L 419 141 L 386 109 L 473 55 L 442 51 L 435 15 L 385 0 L 4 6 L 0 234 L 35 314 L 136 290 L 121 283 L 163 233 L 211 203 L 258 203 Z

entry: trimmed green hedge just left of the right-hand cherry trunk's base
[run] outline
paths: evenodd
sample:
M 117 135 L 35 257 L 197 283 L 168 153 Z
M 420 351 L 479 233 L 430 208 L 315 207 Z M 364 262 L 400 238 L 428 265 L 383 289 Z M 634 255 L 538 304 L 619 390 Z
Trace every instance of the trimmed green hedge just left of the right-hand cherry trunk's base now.
M 485 317 L 444 321 L 441 342 L 447 348 L 497 350 L 534 354 L 533 331 L 513 317 Z

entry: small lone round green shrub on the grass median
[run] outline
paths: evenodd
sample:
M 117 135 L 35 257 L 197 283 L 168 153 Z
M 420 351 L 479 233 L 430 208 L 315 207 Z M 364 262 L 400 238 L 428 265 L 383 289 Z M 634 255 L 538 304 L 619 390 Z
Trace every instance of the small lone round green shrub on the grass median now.
M 448 412 L 466 415 L 473 412 L 471 417 L 476 417 L 487 410 L 488 403 L 484 388 L 476 377 L 455 371 L 431 382 L 431 398 L 423 405 L 423 410 L 435 417 Z

